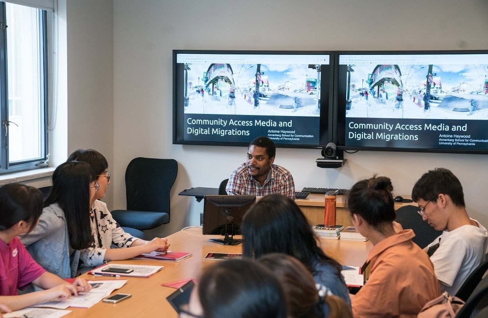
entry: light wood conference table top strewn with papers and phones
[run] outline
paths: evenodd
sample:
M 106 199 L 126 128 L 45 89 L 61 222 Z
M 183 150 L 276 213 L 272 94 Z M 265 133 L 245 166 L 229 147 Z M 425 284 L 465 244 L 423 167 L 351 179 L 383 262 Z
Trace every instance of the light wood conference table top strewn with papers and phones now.
M 88 280 L 127 279 L 127 283 L 112 293 L 131 294 L 132 297 L 117 304 L 99 302 L 90 308 L 69 308 L 68 318 L 100 318 L 100 317 L 165 317 L 173 318 L 178 314 L 166 300 L 166 297 L 175 291 L 174 288 L 162 286 L 162 283 L 174 282 L 182 279 L 198 279 L 202 269 L 215 264 L 203 260 L 208 252 L 241 253 L 242 245 L 229 246 L 208 242 L 210 238 L 222 238 L 217 235 L 202 235 L 201 227 L 189 227 L 167 237 L 171 243 L 170 250 L 177 252 L 192 252 L 193 255 L 180 262 L 148 261 L 129 259 L 127 261 L 114 261 L 111 264 L 154 265 L 164 266 L 164 269 L 148 278 L 140 277 L 99 277 L 83 274 L 81 277 Z M 240 238 L 237 236 L 236 238 Z M 320 239 L 319 244 L 325 253 L 335 258 L 339 263 L 347 266 L 365 266 L 369 250 L 373 244 L 345 240 Z

